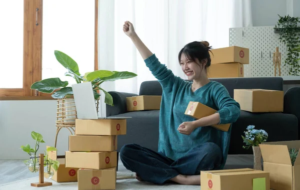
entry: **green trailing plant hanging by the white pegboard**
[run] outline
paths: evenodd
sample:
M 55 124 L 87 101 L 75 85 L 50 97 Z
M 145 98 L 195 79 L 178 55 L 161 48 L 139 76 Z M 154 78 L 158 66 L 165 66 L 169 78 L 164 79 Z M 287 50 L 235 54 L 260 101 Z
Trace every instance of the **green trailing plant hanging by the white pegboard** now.
M 299 50 L 300 47 L 300 27 L 299 17 L 279 16 L 274 29 L 279 33 L 279 40 L 286 45 L 287 55 L 284 66 L 289 65 L 288 74 L 298 76 L 300 72 Z

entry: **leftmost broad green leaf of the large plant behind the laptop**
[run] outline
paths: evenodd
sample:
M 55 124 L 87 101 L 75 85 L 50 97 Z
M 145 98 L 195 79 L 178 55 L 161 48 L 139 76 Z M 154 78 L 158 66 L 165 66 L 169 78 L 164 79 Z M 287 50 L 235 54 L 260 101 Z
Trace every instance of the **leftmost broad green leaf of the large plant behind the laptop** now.
M 34 82 L 30 88 L 39 92 L 52 93 L 54 90 L 67 85 L 67 81 L 61 81 L 59 78 L 47 78 Z

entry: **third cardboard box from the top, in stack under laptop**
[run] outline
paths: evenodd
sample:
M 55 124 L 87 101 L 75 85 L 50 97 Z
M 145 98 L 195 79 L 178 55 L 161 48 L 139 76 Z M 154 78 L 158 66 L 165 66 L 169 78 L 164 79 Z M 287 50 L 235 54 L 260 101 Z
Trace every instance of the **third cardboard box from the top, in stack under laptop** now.
M 65 167 L 105 169 L 116 167 L 116 151 L 113 152 L 70 152 L 65 151 Z

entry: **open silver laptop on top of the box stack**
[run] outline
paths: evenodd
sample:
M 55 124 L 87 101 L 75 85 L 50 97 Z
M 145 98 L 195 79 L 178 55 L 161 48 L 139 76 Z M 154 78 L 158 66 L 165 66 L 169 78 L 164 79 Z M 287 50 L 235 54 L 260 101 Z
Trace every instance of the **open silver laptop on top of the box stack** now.
M 91 82 L 72 84 L 77 119 L 126 119 L 131 117 L 98 117 Z M 103 96 L 103 95 L 101 95 Z

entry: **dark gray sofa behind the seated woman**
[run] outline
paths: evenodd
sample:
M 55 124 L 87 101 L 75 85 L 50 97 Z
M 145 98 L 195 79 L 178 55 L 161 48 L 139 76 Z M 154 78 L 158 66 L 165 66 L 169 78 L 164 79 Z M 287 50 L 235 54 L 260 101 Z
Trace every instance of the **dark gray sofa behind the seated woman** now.
M 233 98 L 233 89 L 269 89 L 282 90 L 283 80 L 280 77 L 261 78 L 213 78 L 223 84 Z M 126 111 L 126 97 L 137 94 L 110 91 L 114 106 L 106 105 L 106 116 L 130 116 L 127 119 L 127 134 L 118 136 L 117 151 L 124 144 L 136 143 L 157 151 L 159 110 Z M 138 95 L 161 95 L 158 81 L 145 81 L 140 85 Z M 298 140 L 300 126 L 300 87 L 292 87 L 284 94 L 284 110 L 281 113 L 251 113 L 240 111 L 240 117 L 232 124 L 228 159 L 225 169 L 253 167 L 252 149 L 242 148 L 241 135 L 248 125 L 255 129 L 264 129 L 268 141 Z

